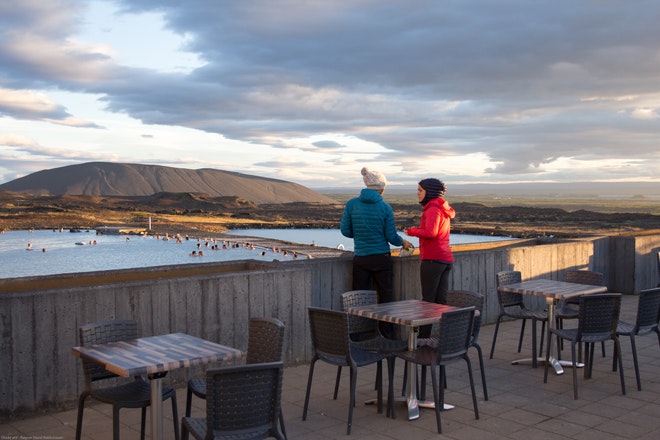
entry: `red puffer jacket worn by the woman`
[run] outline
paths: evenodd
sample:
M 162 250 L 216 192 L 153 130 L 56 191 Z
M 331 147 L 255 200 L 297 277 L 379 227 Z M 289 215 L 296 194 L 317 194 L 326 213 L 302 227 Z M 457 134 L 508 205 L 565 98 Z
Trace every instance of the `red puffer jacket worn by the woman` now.
M 406 234 L 419 237 L 419 257 L 422 260 L 454 262 L 449 247 L 450 220 L 456 216 L 454 208 L 445 199 L 431 199 L 422 212 L 419 228 L 410 228 Z

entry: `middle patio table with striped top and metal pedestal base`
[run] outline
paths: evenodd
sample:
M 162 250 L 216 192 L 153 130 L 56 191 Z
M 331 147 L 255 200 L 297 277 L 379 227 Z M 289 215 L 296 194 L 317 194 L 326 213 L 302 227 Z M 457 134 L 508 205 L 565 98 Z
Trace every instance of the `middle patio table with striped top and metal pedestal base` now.
M 456 307 L 445 304 L 436 304 L 418 299 L 393 301 L 380 304 L 349 307 L 346 312 L 364 318 L 376 319 L 393 324 L 403 325 L 408 331 L 408 350 L 417 347 L 417 327 L 432 324 L 442 316 L 443 312 L 454 310 Z M 408 420 L 419 418 L 419 407 L 434 407 L 433 402 L 419 401 L 417 399 L 417 368 L 408 365 Z M 443 409 L 452 409 L 452 405 L 445 404 Z

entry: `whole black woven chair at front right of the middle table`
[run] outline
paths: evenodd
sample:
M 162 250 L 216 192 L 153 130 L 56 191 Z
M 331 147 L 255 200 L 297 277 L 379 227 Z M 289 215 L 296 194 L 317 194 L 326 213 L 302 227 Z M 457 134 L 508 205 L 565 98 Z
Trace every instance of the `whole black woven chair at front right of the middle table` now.
M 397 354 L 407 362 L 421 365 L 423 368 L 430 367 L 431 381 L 433 384 L 433 401 L 435 403 L 435 418 L 438 425 L 438 433 L 442 433 L 440 420 L 440 409 L 444 405 L 445 393 L 445 366 L 464 360 L 467 364 L 468 377 L 470 379 L 470 390 L 472 391 L 472 405 L 474 417 L 479 419 L 479 408 L 477 406 L 477 393 L 474 388 L 472 376 L 472 364 L 467 354 L 474 331 L 475 307 L 466 307 L 445 312 L 438 319 L 439 336 L 437 347 L 428 345 L 418 347 L 414 351 L 404 351 Z M 440 375 L 438 378 L 438 369 Z M 390 370 L 390 388 L 388 389 L 388 412 L 394 414 L 394 399 L 392 398 L 393 371 Z

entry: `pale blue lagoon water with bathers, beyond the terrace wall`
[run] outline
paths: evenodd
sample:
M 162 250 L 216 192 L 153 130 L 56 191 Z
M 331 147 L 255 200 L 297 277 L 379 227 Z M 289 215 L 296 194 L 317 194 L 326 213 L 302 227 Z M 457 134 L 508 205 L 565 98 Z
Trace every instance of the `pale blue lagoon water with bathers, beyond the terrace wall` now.
M 336 249 L 353 249 L 353 240 L 332 229 L 241 229 L 235 235 L 273 238 Z M 452 235 L 452 242 L 502 240 L 504 237 Z M 227 240 L 231 240 L 227 237 Z M 416 239 L 410 239 L 417 246 Z M 28 244 L 31 250 L 28 249 Z M 192 256 L 194 252 L 203 256 Z M 291 260 L 271 249 L 244 247 L 238 241 L 138 235 L 96 235 L 96 231 L 7 231 L 0 234 L 0 278 L 53 275 L 175 264 L 212 263 L 253 259 Z

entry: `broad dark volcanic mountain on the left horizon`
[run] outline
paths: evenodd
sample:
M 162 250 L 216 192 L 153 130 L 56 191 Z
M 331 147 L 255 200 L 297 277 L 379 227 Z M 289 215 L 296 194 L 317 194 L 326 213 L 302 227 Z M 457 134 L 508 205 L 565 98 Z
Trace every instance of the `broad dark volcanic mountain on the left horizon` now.
M 0 185 L 0 191 L 34 195 L 150 196 L 198 193 L 238 197 L 256 204 L 335 203 L 297 183 L 203 168 L 89 162 L 38 171 Z

